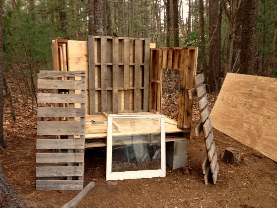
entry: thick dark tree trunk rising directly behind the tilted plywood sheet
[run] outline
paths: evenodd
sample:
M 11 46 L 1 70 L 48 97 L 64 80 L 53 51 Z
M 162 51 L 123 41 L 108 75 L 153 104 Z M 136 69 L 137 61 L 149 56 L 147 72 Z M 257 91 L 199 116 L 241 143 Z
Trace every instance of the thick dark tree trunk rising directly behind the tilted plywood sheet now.
M 240 74 L 254 74 L 254 34 L 257 21 L 258 0 L 245 0 L 241 35 Z

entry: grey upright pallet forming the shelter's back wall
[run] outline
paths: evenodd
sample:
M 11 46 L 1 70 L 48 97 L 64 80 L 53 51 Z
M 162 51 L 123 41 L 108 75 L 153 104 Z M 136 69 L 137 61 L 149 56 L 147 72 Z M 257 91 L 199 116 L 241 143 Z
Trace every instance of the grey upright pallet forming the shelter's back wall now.
M 90 114 L 148 111 L 150 39 L 89 36 Z

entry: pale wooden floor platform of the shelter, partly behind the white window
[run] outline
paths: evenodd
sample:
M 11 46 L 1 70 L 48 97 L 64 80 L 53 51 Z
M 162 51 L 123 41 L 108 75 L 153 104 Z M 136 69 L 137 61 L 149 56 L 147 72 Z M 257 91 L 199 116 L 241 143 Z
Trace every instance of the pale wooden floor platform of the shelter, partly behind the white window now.
M 141 112 L 141 113 L 122 113 L 122 115 L 156 115 L 152 112 Z M 93 124 L 93 121 L 96 122 L 104 122 L 102 124 Z M 182 131 L 177 127 L 177 122 L 166 117 L 166 142 L 169 141 L 182 141 L 186 140 L 186 138 L 182 137 L 183 132 L 189 133 L 190 131 Z M 124 126 L 124 122 L 117 123 L 117 128 L 125 129 L 126 126 Z M 130 132 L 130 134 L 133 133 L 139 133 L 139 134 L 146 134 L 150 133 L 150 128 L 154 126 L 153 120 L 144 119 L 141 124 L 138 124 L 142 126 L 142 130 L 140 132 Z M 155 129 L 153 129 L 155 131 Z M 126 134 L 126 131 L 125 131 Z M 120 135 L 120 132 L 118 132 L 118 135 Z M 93 148 L 93 147 L 104 147 L 106 146 L 106 138 L 107 138 L 107 118 L 105 116 L 105 113 L 103 115 L 87 115 L 86 116 L 86 144 L 85 148 Z

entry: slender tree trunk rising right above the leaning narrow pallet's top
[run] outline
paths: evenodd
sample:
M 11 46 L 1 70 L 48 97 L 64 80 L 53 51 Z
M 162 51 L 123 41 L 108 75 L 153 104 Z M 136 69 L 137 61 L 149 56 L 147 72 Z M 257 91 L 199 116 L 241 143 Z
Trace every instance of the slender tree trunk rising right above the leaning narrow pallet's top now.
M 204 5 L 203 0 L 199 0 L 199 16 L 200 16 L 200 33 L 201 33 L 201 71 L 206 75 L 206 48 L 205 48 L 205 22 L 204 22 Z M 205 76 L 206 77 L 206 76 Z

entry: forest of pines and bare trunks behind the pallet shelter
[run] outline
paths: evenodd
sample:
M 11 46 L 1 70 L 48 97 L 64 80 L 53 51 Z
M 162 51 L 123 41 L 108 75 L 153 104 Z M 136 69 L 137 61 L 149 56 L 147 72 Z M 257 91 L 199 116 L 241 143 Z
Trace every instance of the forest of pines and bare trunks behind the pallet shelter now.
M 88 34 L 197 46 L 197 69 L 210 92 L 220 90 L 228 72 L 277 74 L 275 0 L 8 0 L 2 7 L 8 97 L 6 80 L 12 79 L 35 103 L 36 73 L 52 69 L 52 39 L 87 40 Z

